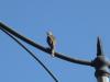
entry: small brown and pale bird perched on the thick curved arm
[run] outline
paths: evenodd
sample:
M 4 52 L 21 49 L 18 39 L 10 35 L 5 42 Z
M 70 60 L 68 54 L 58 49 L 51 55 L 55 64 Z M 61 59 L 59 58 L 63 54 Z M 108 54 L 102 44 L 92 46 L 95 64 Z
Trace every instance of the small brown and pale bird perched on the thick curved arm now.
M 52 56 L 55 57 L 56 39 L 55 39 L 52 32 L 47 32 L 47 44 L 50 46 L 50 50 L 51 50 Z

